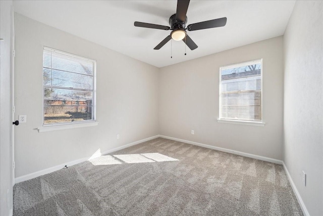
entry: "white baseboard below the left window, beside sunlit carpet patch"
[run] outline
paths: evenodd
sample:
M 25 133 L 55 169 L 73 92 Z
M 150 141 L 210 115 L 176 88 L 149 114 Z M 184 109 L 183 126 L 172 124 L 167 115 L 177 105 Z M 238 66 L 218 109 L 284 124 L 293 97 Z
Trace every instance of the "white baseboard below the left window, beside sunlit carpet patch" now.
M 135 142 L 123 145 L 123 146 L 119 146 L 117 148 L 113 148 L 113 149 L 104 151 L 104 152 L 102 152 L 101 154 L 99 154 L 97 156 L 104 155 L 104 154 L 109 154 L 111 152 L 118 151 L 118 150 L 130 147 L 132 145 L 136 145 L 136 144 L 139 144 L 141 142 L 145 142 L 145 141 L 155 139 L 155 138 L 158 138 L 158 137 L 159 137 L 159 135 L 156 135 L 156 136 L 152 136 L 152 137 L 149 137 L 149 138 L 146 138 L 146 139 L 138 140 L 138 141 L 135 141 Z M 34 172 L 34 173 L 30 173 L 30 174 L 27 174 L 27 175 L 24 175 L 24 176 L 17 177 L 17 178 L 15 178 L 15 184 L 17 184 L 19 182 L 24 182 L 24 181 L 36 178 L 38 176 L 42 176 L 42 175 L 45 175 L 45 174 L 48 174 L 48 173 L 52 173 L 52 172 L 61 170 L 65 166 L 70 167 L 70 166 L 82 163 L 82 162 L 88 160 L 89 158 L 94 158 L 94 157 L 91 157 L 91 156 L 83 157 L 81 159 L 73 160 L 73 161 L 70 161 L 70 162 L 67 162 L 67 163 L 64 163 L 64 164 L 57 165 L 55 167 L 50 167 L 50 168 L 47 168 L 47 169 L 44 169 L 44 170 L 40 170 L 40 171 L 37 171 L 37 172 Z

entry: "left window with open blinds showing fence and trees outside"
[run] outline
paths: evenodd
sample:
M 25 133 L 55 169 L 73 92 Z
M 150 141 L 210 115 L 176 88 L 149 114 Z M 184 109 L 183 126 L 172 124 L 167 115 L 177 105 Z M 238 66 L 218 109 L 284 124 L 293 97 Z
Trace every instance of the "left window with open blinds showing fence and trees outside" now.
M 44 47 L 43 125 L 95 121 L 96 62 Z

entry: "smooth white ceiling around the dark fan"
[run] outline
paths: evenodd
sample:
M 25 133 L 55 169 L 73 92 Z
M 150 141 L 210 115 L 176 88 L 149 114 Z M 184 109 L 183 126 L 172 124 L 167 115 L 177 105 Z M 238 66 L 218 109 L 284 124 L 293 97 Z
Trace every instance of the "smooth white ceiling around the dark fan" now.
M 219 28 L 188 31 L 198 45 L 190 50 L 172 40 L 153 48 L 171 31 L 134 27 L 134 21 L 169 26 L 177 1 L 14 1 L 15 12 L 164 67 L 284 34 L 295 1 L 191 1 L 187 25 L 227 17 Z M 53 47 L 55 48 L 55 47 Z

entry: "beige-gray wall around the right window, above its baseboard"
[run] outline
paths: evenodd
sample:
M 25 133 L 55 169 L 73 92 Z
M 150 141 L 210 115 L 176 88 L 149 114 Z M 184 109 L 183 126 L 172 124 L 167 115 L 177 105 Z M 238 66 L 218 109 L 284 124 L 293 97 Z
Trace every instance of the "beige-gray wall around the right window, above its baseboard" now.
M 264 127 L 218 123 L 219 68 L 263 59 Z M 282 159 L 283 38 L 276 37 L 160 69 L 161 135 Z M 194 130 L 195 135 L 191 135 Z

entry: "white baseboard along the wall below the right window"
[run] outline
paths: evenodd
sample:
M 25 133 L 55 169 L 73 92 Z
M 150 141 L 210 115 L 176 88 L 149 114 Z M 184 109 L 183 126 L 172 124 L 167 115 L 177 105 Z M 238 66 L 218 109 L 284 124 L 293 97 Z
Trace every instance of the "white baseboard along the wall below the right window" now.
M 199 142 L 192 142 L 192 141 L 178 139 L 178 138 L 164 136 L 164 135 L 159 135 L 159 137 L 165 138 L 165 139 L 171 139 L 171 140 L 175 140 L 175 141 L 179 141 L 179 142 L 184 142 L 184 143 L 188 143 L 188 144 L 192 144 L 192 145 L 197 145 L 197 146 L 201 146 L 204 148 L 210 148 L 210 149 L 214 149 L 214 150 L 218 150 L 218 151 L 224 151 L 224 152 L 228 152 L 228 153 L 232 153 L 232 154 L 237 154 L 237 155 L 241 155 L 241 156 L 245 156 L 245 157 L 251 157 L 254 159 L 264 160 L 264 161 L 271 162 L 274 164 L 279 164 L 279 165 L 283 164 L 283 160 L 278 160 L 278 159 L 274 159 L 274 158 L 270 158 L 270 157 L 259 156 L 256 154 L 249 154 L 249 153 L 245 153 L 245 152 L 241 152 L 241 151 L 231 150 L 228 148 L 221 148 L 221 147 L 216 147 L 213 145 L 206 145 L 206 144 L 202 144 Z

